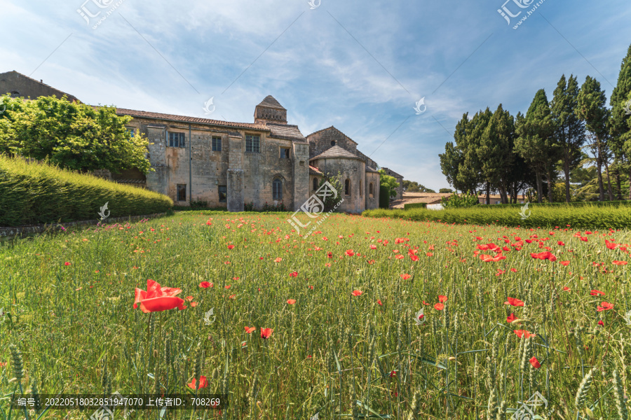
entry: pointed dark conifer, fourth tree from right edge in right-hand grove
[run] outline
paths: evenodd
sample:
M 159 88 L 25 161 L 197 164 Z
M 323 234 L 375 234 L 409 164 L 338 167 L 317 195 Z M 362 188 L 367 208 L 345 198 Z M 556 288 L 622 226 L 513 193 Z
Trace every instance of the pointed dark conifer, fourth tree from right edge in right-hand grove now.
M 554 141 L 554 123 L 545 90 L 538 90 L 526 113 L 517 114 L 515 123 L 515 153 L 531 167 L 536 177 L 538 202 L 543 201 L 543 178 L 551 186 L 556 178 L 554 165 L 559 149 Z M 548 188 L 548 201 L 552 202 L 552 188 Z

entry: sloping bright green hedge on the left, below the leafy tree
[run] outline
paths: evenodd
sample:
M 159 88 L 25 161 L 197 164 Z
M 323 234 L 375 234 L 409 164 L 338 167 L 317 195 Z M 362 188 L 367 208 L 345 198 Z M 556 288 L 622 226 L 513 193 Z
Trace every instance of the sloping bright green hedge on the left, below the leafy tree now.
M 143 188 L 0 155 L 0 226 L 87 221 L 163 213 L 173 201 Z M 106 211 L 107 214 L 107 211 Z

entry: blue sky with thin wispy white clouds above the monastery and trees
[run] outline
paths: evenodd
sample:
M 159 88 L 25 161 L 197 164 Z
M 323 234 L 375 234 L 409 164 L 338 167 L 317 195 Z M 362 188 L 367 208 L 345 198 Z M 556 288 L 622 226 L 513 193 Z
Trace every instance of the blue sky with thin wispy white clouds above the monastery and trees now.
M 497 11 L 505 0 L 84 1 L 0 0 L 0 72 L 88 104 L 238 122 L 271 94 L 303 134 L 334 125 L 436 190 L 463 113 L 525 112 L 563 73 L 597 78 L 609 97 L 631 44 L 623 0 L 545 0 L 518 29 L 537 1 L 506 3 L 522 11 L 511 25 Z M 82 6 L 101 13 L 88 24 Z

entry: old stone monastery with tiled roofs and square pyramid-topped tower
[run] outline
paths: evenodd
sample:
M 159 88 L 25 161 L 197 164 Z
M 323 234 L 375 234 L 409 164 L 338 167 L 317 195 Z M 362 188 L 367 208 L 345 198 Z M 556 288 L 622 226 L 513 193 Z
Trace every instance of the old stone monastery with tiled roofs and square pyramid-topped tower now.
M 7 83 L 10 78 L 13 83 Z M 16 85 L 15 79 L 22 84 Z M 0 94 L 23 90 L 22 97 L 44 96 L 37 83 L 15 71 L 0 73 Z M 39 89 L 34 95 L 28 94 L 32 86 Z M 379 207 L 377 164 L 358 151 L 357 142 L 335 127 L 304 137 L 297 125 L 287 124 L 287 110 L 271 96 L 255 107 L 254 123 L 121 108 L 116 112 L 131 116 L 128 129 L 149 139 L 147 157 L 155 172 L 100 175 L 145 186 L 176 204 L 203 200 L 210 207 L 243 211 L 246 204 L 260 209 L 282 203 L 296 211 L 318 190 L 325 174 L 341 174 L 343 190 L 338 193 L 344 202 L 338 211 Z M 398 182 L 402 186 L 402 179 Z

